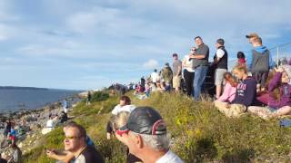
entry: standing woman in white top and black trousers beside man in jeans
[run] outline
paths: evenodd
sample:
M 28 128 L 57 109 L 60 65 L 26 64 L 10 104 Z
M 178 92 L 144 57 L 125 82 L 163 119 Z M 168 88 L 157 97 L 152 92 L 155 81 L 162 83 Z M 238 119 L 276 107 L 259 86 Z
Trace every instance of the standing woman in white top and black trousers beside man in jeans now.
M 195 53 L 195 49 L 191 48 L 190 54 Z M 189 55 L 185 55 L 183 61 L 182 61 L 182 68 L 183 70 L 183 77 L 185 80 L 186 84 L 186 92 L 187 96 L 192 96 L 194 95 L 193 92 L 193 80 L 194 80 L 194 75 L 195 75 L 195 70 L 193 67 L 193 61 L 190 60 Z

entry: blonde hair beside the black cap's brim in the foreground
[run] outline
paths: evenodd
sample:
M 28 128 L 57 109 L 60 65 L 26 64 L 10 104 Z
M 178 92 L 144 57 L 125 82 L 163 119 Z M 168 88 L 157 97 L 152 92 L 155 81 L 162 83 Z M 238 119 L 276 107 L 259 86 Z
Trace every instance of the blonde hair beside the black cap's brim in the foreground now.
M 110 118 L 113 130 L 117 130 L 125 126 L 129 117 L 128 111 L 120 111 L 117 115 L 114 115 Z

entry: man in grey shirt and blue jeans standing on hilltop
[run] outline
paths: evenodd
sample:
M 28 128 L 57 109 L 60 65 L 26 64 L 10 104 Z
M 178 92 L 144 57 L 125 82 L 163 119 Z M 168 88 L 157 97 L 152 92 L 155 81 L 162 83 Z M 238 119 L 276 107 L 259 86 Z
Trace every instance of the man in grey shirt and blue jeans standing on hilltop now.
M 197 45 L 197 49 L 194 54 L 190 55 L 190 58 L 193 59 L 193 66 L 195 67 L 193 85 L 194 99 L 196 101 L 199 101 L 201 87 L 206 79 L 206 73 L 208 70 L 209 47 L 205 43 L 203 43 L 203 40 L 200 36 L 196 36 L 195 43 Z

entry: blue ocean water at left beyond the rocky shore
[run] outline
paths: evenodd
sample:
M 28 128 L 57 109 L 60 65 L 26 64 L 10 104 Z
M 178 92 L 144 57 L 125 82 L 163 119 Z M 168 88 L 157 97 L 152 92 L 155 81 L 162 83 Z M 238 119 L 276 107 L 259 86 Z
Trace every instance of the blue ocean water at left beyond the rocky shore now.
M 0 112 L 33 110 L 63 101 L 80 91 L 0 89 Z

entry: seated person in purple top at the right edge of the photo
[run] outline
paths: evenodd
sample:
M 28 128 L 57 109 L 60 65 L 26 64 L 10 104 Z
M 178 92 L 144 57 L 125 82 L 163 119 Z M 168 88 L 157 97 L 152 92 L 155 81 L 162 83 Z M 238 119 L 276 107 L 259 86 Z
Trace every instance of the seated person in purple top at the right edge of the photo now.
M 283 65 L 268 83 L 269 101 L 267 107 L 251 106 L 248 111 L 263 118 L 276 118 L 291 113 L 291 66 Z

